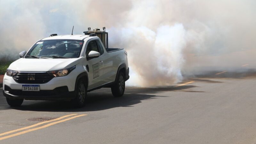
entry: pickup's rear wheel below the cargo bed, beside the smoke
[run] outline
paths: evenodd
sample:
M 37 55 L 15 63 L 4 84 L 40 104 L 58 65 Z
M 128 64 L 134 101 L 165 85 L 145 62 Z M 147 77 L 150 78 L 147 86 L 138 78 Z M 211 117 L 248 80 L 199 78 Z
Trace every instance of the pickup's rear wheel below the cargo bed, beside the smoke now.
M 121 97 L 124 95 L 125 80 L 124 74 L 120 72 L 117 77 L 116 83 L 111 87 L 111 92 L 114 97 Z

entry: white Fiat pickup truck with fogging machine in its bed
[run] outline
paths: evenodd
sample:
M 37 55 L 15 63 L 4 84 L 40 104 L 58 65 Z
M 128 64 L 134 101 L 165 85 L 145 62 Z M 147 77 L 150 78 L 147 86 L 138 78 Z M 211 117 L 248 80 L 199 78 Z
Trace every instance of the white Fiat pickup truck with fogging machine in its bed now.
M 88 28 L 89 29 L 89 28 Z M 127 52 L 108 48 L 108 33 L 52 34 L 20 52 L 4 75 L 3 93 L 10 106 L 23 100 L 71 100 L 83 107 L 87 92 L 108 87 L 122 96 L 129 79 Z

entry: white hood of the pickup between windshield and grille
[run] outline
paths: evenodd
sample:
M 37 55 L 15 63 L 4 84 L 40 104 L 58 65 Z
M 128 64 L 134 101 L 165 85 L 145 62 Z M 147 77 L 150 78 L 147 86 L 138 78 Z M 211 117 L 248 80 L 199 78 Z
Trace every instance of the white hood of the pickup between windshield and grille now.
M 72 59 L 36 59 L 20 58 L 14 61 L 9 69 L 15 71 L 54 71 L 73 67 L 80 62 L 80 58 Z

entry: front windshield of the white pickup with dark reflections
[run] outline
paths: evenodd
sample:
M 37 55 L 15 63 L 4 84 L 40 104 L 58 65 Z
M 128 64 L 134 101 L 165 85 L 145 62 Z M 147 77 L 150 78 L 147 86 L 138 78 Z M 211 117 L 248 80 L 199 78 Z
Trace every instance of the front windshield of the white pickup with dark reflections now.
M 82 40 L 38 41 L 29 50 L 26 58 L 78 58 L 82 50 Z

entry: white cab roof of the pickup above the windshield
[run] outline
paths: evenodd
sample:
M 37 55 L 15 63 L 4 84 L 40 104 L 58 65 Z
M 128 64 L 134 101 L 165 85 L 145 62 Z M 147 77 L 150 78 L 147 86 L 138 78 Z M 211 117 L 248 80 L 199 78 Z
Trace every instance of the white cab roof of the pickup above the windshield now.
M 43 40 L 52 40 L 52 39 L 73 39 L 73 40 L 83 40 L 84 38 L 89 37 L 89 35 L 60 35 L 60 36 L 50 36 L 41 39 Z

